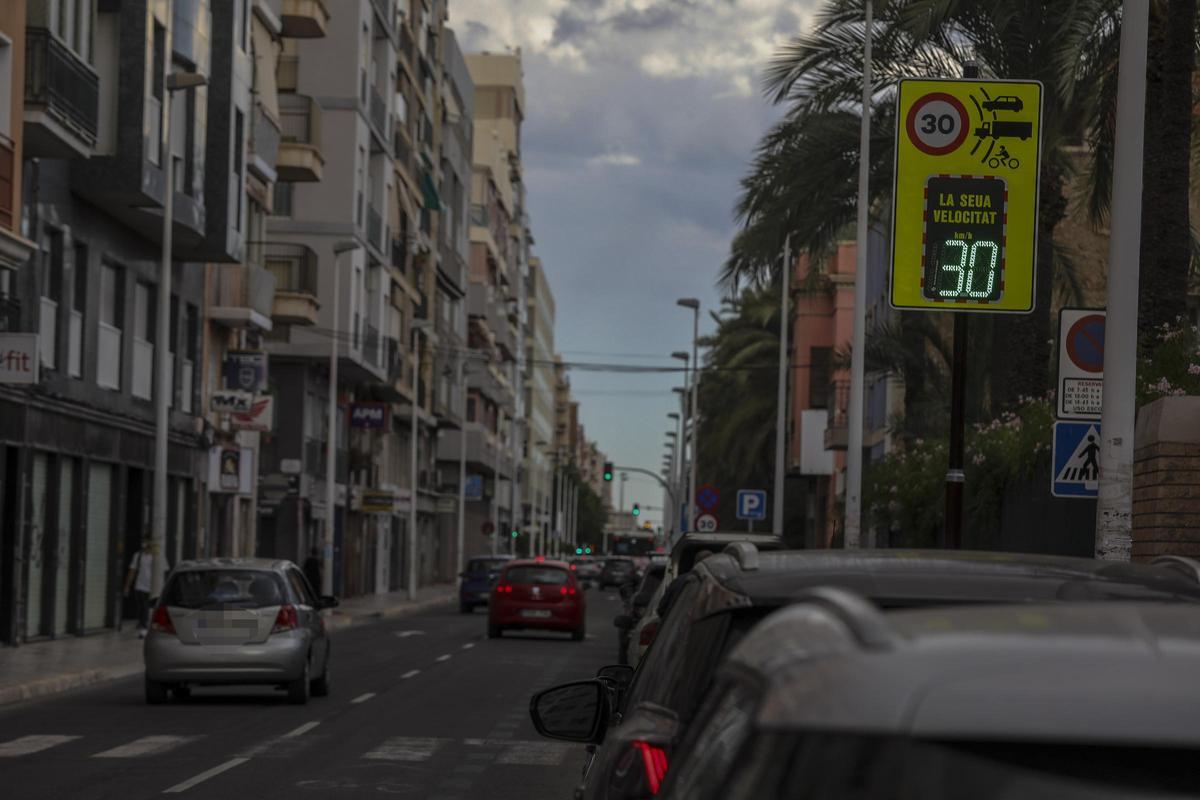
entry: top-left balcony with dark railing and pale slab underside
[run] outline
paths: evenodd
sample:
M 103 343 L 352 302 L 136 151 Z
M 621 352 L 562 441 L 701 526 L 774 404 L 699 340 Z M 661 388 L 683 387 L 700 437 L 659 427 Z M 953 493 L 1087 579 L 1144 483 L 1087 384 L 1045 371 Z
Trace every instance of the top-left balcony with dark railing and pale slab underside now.
M 100 77 L 44 28 L 25 31 L 25 142 L 31 158 L 91 156 Z

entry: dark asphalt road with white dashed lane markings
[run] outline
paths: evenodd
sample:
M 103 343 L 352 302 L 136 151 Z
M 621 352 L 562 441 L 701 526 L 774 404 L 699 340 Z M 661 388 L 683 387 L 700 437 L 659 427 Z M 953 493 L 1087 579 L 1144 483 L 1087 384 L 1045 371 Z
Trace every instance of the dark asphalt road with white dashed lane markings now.
M 486 638 L 457 606 L 334 634 L 332 691 L 202 688 L 146 706 L 142 679 L 0 710 L 0 795 L 568 799 L 583 747 L 538 736 L 529 696 L 614 662 L 612 590 L 589 590 L 588 637 Z

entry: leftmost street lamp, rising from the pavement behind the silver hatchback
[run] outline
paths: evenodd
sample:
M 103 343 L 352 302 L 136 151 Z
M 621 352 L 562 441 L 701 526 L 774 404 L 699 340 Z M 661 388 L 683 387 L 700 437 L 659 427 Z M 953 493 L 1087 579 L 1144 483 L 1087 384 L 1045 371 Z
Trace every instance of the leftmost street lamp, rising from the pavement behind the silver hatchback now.
M 158 281 L 158 324 L 157 342 L 155 342 L 155 367 L 158 372 L 158 387 L 155 393 L 154 426 L 154 570 L 150 572 L 150 596 L 162 594 L 163 571 L 158 569 L 167 542 L 167 421 L 169 419 L 170 395 L 170 263 L 172 263 L 172 225 L 175 216 L 175 162 L 170 155 L 170 101 L 176 91 L 196 89 L 208 83 L 208 78 L 197 72 L 173 72 L 167 76 L 167 148 L 162 163 L 164 179 L 162 201 L 162 277 Z M 233 553 L 236 555 L 236 553 Z

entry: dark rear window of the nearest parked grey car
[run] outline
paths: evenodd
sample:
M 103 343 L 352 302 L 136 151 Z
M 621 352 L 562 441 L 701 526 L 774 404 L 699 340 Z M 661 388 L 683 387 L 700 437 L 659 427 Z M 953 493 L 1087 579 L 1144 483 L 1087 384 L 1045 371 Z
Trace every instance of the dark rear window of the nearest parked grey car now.
M 731 800 L 1195 800 L 1200 751 L 918 741 L 827 732 L 751 739 Z

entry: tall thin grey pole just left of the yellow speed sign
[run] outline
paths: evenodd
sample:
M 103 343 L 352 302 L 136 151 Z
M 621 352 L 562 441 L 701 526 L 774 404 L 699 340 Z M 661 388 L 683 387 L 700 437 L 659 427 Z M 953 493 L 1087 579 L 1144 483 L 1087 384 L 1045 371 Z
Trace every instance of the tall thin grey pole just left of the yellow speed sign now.
M 850 416 L 846 445 L 845 546 L 863 545 L 863 393 L 866 390 L 866 225 L 871 175 L 871 12 L 875 0 L 863 0 L 866 10 L 863 31 L 863 114 L 858 140 L 858 236 L 854 272 L 854 331 L 850 345 Z

